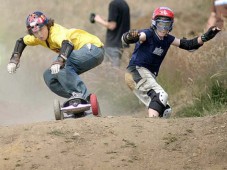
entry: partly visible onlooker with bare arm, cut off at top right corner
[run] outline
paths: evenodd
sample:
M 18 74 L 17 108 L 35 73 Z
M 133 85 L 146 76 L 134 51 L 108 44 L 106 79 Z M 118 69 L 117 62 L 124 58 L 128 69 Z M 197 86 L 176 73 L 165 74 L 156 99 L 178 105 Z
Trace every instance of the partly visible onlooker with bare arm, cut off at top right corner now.
M 227 1 L 226 0 L 212 0 L 211 14 L 207 22 L 207 28 L 211 26 L 218 26 L 225 28 L 225 20 L 227 19 Z

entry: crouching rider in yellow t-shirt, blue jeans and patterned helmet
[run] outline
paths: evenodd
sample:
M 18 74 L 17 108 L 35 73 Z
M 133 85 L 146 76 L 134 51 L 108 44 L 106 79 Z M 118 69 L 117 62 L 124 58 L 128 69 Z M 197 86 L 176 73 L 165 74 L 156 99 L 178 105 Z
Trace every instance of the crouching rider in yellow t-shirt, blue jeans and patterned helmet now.
M 84 30 L 58 25 L 40 11 L 27 17 L 26 26 L 28 35 L 16 41 L 8 72 L 16 72 L 26 46 L 44 46 L 58 53 L 43 74 L 50 90 L 61 97 L 78 94 L 89 101 L 91 94 L 79 75 L 102 63 L 104 49 L 100 39 Z

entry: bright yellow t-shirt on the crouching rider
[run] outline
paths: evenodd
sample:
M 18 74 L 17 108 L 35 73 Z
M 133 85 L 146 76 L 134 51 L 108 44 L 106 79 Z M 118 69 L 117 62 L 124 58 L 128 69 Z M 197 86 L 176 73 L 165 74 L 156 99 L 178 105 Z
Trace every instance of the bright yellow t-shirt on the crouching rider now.
M 74 50 L 79 50 L 85 44 L 89 43 L 97 47 L 103 46 L 103 43 L 95 35 L 92 35 L 81 29 L 67 29 L 56 23 L 52 27 L 50 27 L 49 37 L 46 41 L 42 41 L 32 35 L 26 35 L 23 40 L 26 45 L 42 45 L 46 48 L 50 48 L 55 52 L 60 51 L 63 40 L 72 42 L 74 44 Z

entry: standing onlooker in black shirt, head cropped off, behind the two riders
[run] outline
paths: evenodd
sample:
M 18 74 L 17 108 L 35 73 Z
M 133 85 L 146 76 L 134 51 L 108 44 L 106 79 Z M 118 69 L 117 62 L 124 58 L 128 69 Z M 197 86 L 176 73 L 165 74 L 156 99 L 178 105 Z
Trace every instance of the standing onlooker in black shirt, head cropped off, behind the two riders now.
M 98 14 L 91 14 L 91 22 L 98 22 L 107 28 L 104 61 L 119 67 L 123 52 L 121 36 L 130 29 L 130 10 L 125 0 L 112 0 L 108 12 L 107 21 Z

